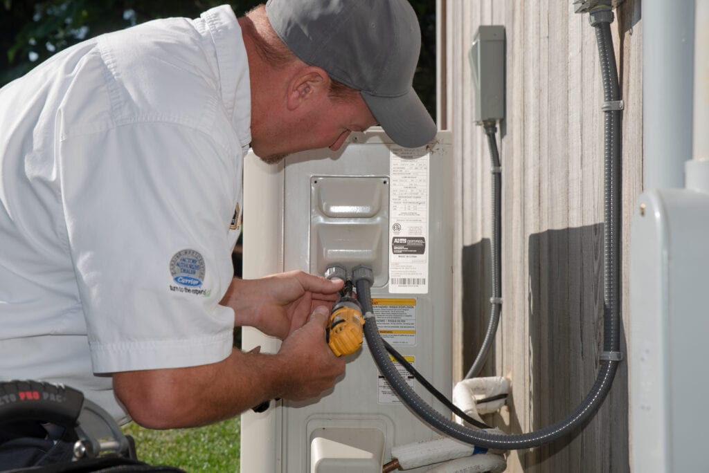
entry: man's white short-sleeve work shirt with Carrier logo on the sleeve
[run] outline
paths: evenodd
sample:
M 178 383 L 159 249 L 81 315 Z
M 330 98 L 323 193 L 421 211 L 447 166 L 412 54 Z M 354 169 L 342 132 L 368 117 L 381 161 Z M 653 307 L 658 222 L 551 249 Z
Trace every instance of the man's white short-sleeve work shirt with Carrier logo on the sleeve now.
M 0 89 L 0 379 L 63 382 L 125 421 L 110 373 L 229 355 L 250 105 L 228 6 Z

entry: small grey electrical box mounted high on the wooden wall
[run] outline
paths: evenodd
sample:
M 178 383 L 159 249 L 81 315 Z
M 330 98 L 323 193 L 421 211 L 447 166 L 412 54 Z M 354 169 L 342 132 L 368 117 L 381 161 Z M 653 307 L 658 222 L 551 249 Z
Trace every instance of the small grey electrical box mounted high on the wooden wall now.
M 505 27 L 481 25 L 468 53 L 473 76 L 475 122 L 505 118 Z

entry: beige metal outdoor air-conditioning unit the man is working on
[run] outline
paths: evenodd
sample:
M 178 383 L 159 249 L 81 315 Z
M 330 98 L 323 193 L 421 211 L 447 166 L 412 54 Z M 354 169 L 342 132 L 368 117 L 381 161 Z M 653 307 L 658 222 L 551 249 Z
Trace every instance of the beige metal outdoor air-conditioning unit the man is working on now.
M 333 263 L 374 271 L 381 336 L 441 392 L 452 386 L 452 139 L 398 147 L 381 129 L 350 135 L 340 152 L 303 152 L 244 166 L 244 277 Z M 242 349 L 279 342 L 244 329 Z M 308 367 L 303 367 L 308 369 Z M 449 412 L 406 374 L 415 392 Z M 379 473 L 395 445 L 438 436 L 399 401 L 366 341 L 331 392 L 272 401 L 242 415 L 242 472 Z M 423 471 L 423 469 L 412 470 Z

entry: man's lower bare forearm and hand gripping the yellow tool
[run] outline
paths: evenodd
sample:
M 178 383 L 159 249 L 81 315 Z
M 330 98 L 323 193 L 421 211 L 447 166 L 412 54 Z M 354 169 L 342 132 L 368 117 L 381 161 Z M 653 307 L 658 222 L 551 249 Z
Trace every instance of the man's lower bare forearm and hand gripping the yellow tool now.
M 267 399 L 317 397 L 345 371 L 325 342 L 329 311 L 316 307 L 276 355 L 233 349 L 211 365 L 113 373 L 113 389 L 145 427 L 201 426 L 240 414 Z

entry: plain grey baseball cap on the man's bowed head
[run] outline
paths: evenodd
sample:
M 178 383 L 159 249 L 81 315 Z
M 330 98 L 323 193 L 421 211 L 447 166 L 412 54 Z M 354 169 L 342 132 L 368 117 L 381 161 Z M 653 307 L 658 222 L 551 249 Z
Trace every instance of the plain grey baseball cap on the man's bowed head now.
M 435 136 L 411 86 L 421 32 L 408 0 L 269 0 L 266 13 L 303 62 L 359 90 L 397 144 L 419 147 Z

